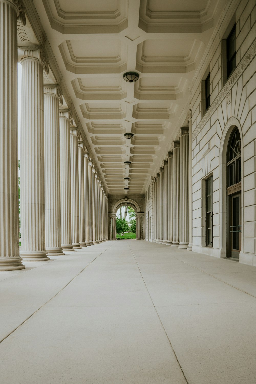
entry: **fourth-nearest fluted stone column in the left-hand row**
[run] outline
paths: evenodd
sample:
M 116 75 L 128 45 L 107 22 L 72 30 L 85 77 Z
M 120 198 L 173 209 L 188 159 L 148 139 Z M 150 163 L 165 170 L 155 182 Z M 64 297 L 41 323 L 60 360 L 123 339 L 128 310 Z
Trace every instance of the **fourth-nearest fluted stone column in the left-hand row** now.
M 61 247 L 67 252 L 74 251 L 71 240 L 70 119 L 68 110 L 59 112 Z

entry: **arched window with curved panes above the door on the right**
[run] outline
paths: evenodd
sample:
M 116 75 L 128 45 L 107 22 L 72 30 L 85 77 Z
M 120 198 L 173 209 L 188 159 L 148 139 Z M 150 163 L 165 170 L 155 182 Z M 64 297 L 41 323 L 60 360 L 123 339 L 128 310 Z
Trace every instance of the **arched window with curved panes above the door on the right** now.
M 236 127 L 228 143 L 227 152 L 228 187 L 241 182 L 241 138 Z

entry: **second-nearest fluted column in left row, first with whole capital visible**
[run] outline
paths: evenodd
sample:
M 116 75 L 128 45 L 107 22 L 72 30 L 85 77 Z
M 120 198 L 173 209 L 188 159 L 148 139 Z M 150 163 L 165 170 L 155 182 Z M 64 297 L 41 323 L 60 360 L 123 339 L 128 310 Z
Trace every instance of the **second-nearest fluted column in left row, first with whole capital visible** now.
M 20 254 L 26 260 L 44 261 L 49 260 L 45 249 L 43 68 L 46 64 L 38 47 L 18 53 L 22 64 Z

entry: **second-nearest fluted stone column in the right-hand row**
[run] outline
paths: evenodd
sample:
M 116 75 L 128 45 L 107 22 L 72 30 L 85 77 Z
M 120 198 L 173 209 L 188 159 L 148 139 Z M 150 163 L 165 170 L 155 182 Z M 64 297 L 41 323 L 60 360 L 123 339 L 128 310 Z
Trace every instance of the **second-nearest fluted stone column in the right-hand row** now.
M 172 183 L 172 247 L 180 243 L 180 142 L 172 142 L 173 183 Z

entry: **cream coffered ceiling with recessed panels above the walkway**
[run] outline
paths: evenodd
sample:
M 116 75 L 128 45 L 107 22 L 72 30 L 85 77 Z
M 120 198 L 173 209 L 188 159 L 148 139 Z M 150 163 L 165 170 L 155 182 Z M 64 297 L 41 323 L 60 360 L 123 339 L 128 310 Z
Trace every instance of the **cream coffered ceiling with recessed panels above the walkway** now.
M 145 192 L 225 2 L 33 0 L 107 192 Z M 126 71 L 139 80 L 126 83 Z

